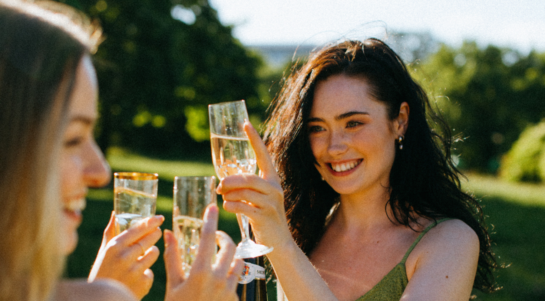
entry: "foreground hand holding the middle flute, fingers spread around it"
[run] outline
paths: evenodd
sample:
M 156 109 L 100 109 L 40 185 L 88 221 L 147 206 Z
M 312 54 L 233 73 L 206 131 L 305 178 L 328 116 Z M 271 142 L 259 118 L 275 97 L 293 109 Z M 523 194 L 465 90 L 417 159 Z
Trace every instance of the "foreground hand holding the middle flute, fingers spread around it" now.
M 233 260 L 235 244 L 225 232 L 216 231 L 219 210 L 215 204 L 208 206 L 204 213 L 201 241 L 191 272 L 184 279 L 178 243 L 172 231 L 165 230 L 165 268 L 167 287 L 165 301 L 234 301 L 238 300 L 235 288 L 244 262 Z M 220 251 L 215 263 L 211 264 L 216 252 L 216 240 Z

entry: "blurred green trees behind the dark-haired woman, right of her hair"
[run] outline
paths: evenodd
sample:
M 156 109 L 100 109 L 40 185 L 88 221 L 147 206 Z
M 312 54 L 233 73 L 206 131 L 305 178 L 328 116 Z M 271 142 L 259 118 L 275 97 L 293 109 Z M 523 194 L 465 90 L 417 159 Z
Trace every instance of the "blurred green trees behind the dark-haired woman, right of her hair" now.
M 442 45 L 416 70 L 463 138 L 456 144 L 462 168 L 495 173 L 524 128 L 545 116 L 545 54 L 466 41 Z

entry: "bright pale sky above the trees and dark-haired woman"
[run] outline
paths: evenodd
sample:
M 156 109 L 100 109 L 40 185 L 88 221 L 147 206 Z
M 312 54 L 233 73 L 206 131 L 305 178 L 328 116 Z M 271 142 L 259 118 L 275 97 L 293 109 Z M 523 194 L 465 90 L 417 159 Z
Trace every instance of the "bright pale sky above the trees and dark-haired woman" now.
M 545 0 L 209 0 L 244 45 L 321 44 L 342 38 L 384 38 L 429 32 L 457 46 L 545 52 Z M 377 22 L 379 21 L 379 22 Z

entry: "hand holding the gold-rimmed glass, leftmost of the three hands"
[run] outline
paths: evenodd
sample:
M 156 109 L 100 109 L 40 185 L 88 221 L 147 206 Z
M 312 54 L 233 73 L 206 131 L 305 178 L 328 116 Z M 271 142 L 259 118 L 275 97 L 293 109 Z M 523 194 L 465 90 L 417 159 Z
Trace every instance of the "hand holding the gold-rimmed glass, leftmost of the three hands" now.
M 163 216 L 144 218 L 115 236 L 112 212 L 88 282 L 111 278 L 129 287 L 139 300 L 146 296 L 153 284 L 149 267 L 159 258 L 159 249 L 154 244 L 161 238 L 159 226 L 164 220 Z

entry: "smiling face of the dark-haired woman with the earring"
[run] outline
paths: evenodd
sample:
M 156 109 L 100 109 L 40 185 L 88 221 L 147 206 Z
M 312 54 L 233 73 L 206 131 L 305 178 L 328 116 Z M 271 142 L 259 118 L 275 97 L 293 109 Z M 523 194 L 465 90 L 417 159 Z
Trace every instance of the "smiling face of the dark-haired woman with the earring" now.
M 363 79 L 336 75 L 314 91 L 307 125 L 312 153 L 319 173 L 341 195 L 388 187 L 395 140 L 404 132 L 369 90 Z

